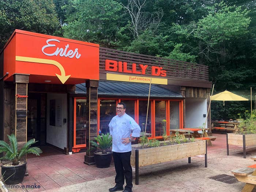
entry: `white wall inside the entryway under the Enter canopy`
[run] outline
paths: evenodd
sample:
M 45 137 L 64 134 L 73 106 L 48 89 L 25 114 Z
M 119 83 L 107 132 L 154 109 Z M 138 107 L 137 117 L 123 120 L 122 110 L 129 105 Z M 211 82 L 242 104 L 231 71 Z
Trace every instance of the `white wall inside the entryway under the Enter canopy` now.
M 50 102 L 55 102 L 55 109 L 51 108 Z M 55 126 L 50 125 L 50 119 L 53 121 L 54 116 Z M 67 123 L 63 123 L 64 118 L 67 119 L 67 94 L 48 93 L 46 142 L 61 149 L 67 147 Z

